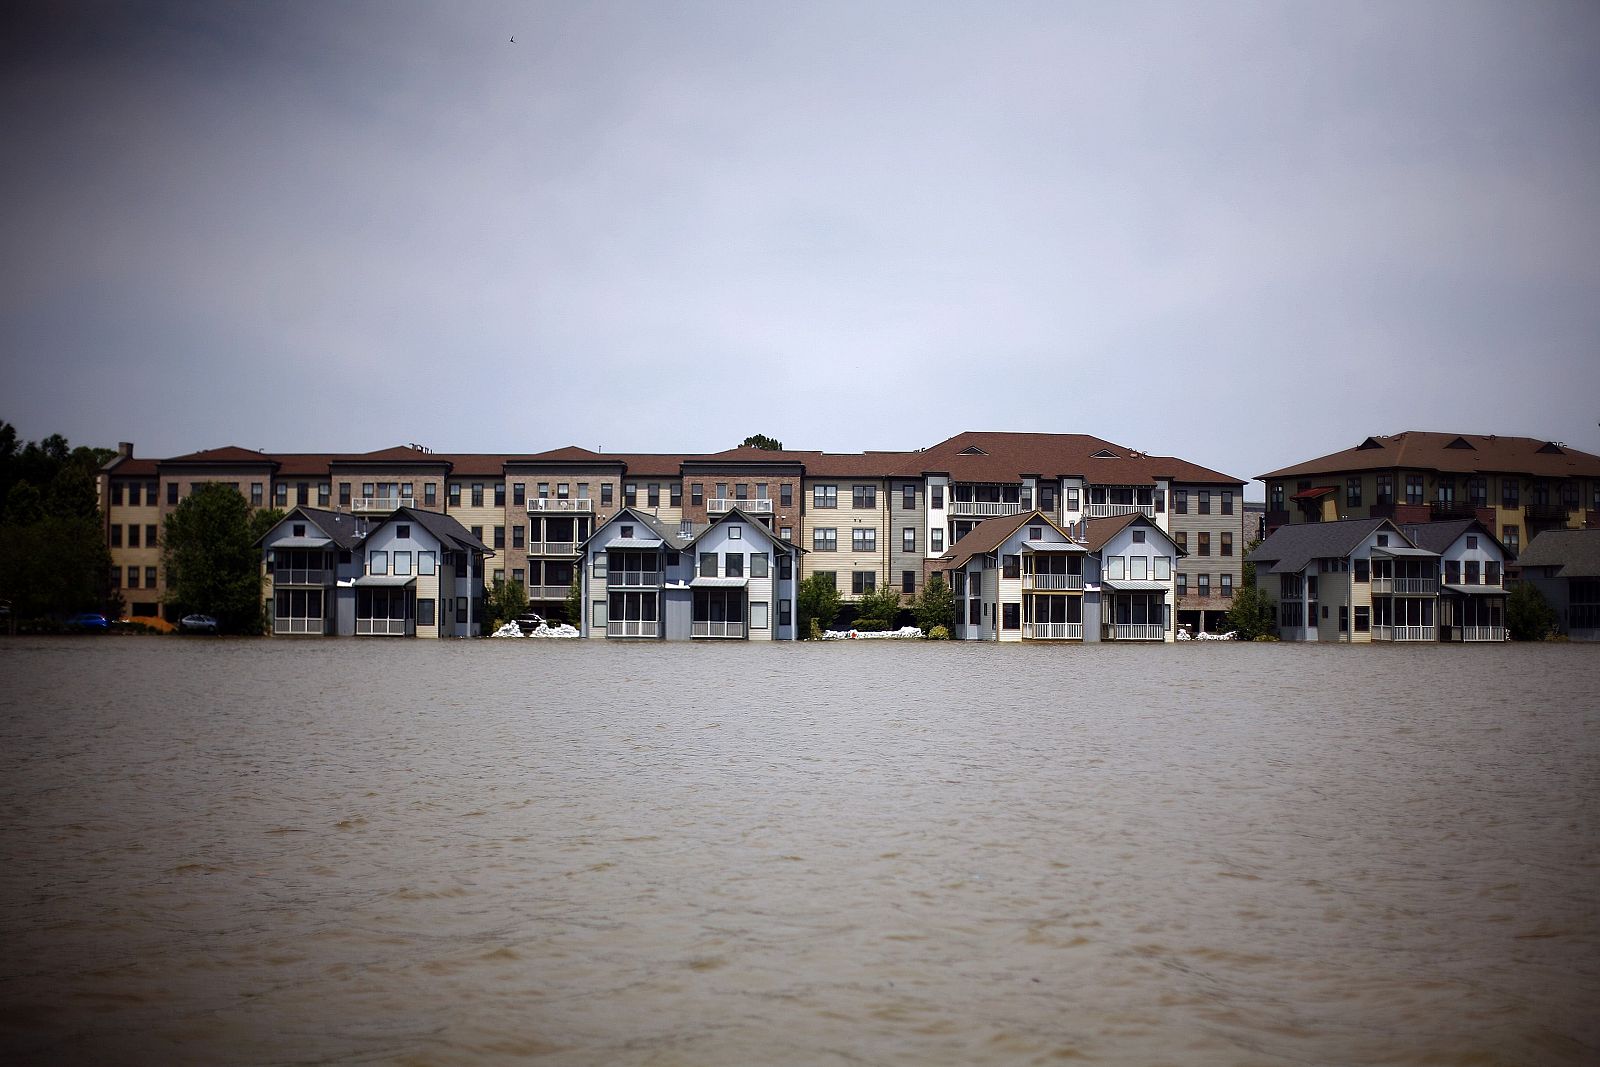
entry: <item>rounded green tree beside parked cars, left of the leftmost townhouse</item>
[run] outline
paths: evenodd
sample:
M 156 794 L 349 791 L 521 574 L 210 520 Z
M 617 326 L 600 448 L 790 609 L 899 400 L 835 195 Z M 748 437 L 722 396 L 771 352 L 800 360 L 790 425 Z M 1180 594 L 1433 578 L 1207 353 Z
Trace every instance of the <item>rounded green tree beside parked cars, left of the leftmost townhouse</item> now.
M 176 614 L 203 611 L 234 633 L 259 633 L 261 549 L 256 528 L 269 514 L 251 517 L 250 504 L 230 485 L 197 486 L 162 528 L 166 605 Z

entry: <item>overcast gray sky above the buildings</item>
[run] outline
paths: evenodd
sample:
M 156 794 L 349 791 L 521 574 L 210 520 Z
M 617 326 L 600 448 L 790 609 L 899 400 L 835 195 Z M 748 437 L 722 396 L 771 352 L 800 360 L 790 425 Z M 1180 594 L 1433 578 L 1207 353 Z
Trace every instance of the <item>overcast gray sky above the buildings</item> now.
M 24 438 L 1600 453 L 1587 0 L 3 18 Z

